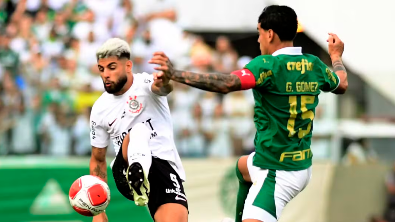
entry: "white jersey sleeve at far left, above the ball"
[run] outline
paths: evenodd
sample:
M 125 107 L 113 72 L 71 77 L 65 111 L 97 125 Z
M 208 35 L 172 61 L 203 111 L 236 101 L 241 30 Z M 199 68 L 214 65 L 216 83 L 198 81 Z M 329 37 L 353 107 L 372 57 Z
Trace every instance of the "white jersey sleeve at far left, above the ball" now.
M 99 115 L 95 113 L 94 109 L 95 105 L 92 108 L 91 118 L 89 121 L 89 123 L 91 124 L 91 145 L 98 148 L 104 148 L 109 145 L 110 135 L 103 127 L 103 121 L 101 120 Z

